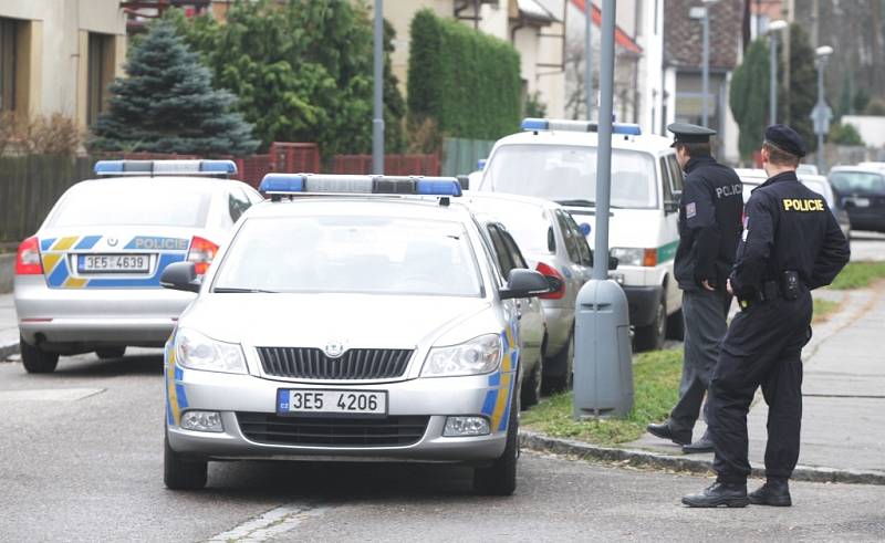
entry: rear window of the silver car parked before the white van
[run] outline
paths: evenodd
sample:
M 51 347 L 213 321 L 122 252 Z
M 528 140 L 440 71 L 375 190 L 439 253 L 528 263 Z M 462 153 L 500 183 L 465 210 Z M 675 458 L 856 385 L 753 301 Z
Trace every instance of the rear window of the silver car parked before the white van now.
M 549 239 L 552 224 L 548 212 L 538 206 L 513 201 L 494 201 L 477 198 L 475 209 L 487 212 L 501 223 L 525 254 L 551 254 Z

